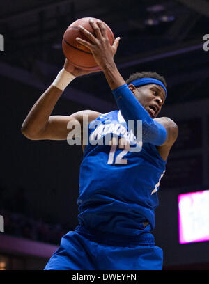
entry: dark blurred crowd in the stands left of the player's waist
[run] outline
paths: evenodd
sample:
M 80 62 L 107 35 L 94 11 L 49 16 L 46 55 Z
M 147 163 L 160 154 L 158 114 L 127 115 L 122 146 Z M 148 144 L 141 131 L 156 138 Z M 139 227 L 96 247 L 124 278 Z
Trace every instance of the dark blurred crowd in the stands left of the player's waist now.
M 59 245 L 61 237 L 68 232 L 60 224 L 48 224 L 40 220 L 31 219 L 24 214 L 10 212 L 1 209 L 0 214 L 4 219 L 4 231 L 6 235 L 22 237 L 38 242 L 47 242 Z

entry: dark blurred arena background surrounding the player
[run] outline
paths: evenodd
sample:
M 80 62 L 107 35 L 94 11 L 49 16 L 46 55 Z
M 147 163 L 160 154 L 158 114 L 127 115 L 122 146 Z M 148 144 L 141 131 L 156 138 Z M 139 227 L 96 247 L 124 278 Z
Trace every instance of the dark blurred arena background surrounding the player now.
M 163 269 L 209 269 L 208 241 L 180 244 L 178 230 L 178 196 L 209 189 L 206 0 L 1 1 L 0 269 L 43 269 L 61 237 L 77 226 L 82 148 L 66 141 L 30 141 L 20 129 L 63 67 L 65 29 L 81 17 L 102 19 L 121 37 L 115 59 L 124 79 L 141 71 L 167 79 L 167 101 L 160 115 L 178 124 L 179 136 L 158 192 L 153 235 L 164 250 Z M 116 109 L 101 72 L 75 79 L 53 114 L 82 109 Z M 199 212 L 194 219 L 209 228 L 209 220 Z

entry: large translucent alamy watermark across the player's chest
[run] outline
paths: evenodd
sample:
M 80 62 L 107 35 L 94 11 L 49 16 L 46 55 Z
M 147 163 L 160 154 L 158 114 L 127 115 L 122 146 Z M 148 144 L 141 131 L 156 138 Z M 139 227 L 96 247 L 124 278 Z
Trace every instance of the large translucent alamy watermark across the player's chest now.
M 67 128 L 72 129 L 68 133 L 69 145 L 118 145 L 119 148 L 128 152 L 140 152 L 142 147 L 142 122 L 129 120 L 127 127 L 123 123 L 114 123 L 109 118 L 93 120 L 89 124 L 88 115 L 83 116 L 83 128 L 77 121 L 69 121 Z M 89 132 L 88 132 L 89 129 Z M 134 129 L 136 130 L 134 132 Z M 89 135 L 90 133 L 90 135 Z M 120 138 L 121 136 L 121 138 Z

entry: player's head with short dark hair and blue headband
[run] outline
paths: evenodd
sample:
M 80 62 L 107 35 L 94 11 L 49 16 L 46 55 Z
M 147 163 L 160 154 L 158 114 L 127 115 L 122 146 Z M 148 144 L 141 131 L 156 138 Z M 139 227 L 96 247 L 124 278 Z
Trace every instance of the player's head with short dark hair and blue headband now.
M 126 84 L 150 116 L 157 117 L 167 96 L 164 77 L 156 72 L 137 72 L 130 75 Z

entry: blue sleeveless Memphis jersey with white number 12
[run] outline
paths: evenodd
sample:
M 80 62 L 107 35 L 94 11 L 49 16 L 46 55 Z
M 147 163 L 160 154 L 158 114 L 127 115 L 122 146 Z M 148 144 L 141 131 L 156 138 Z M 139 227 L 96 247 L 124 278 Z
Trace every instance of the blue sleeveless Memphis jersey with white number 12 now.
M 101 114 L 88 125 L 79 174 L 79 225 L 138 236 L 141 223 L 149 222 L 153 230 L 165 166 L 155 145 L 136 141 L 121 111 Z

